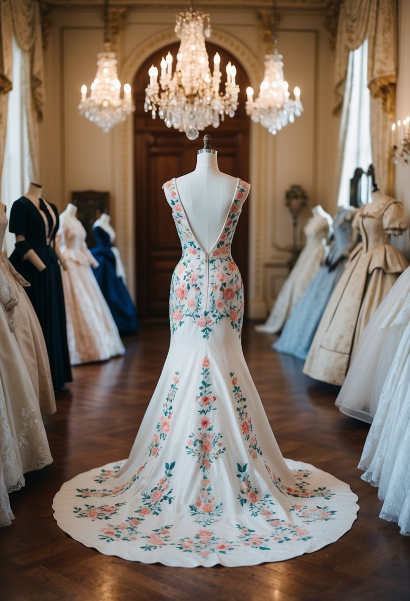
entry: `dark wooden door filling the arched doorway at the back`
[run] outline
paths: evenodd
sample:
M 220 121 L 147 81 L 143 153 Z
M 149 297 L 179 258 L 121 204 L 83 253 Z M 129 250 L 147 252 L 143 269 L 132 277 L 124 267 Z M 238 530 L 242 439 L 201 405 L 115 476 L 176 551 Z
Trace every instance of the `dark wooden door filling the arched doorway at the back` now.
M 145 87 L 151 64 L 159 66 L 161 57 L 170 50 L 176 56 L 179 43 L 167 45 L 147 58 L 135 76 L 133 97 L 135 101 L 135 233 L 137 302 L 141 317 L 166 317 L 171 275 L 181 256 L 179 237 L 174 226 L 161 186 L 171 177 L 192 171 L 197 160 L 197 150 L 203 147 L 203 136 L 212 136 L 212 147 L 218 150 L 221 171 L 248 179 L 249 172 L 249 118 L 245 113 L 246 87 L 249 85 L 245 70 L 227 50 L 207 43 L 212 65 L 215 52 L 221 55 L 221 70 L 228 61 L 237 69 L 236 81 L 240 87 L 239 108 L 234 118 L 226 117 L 224 123 L 209 127 L 194 142 L 185 133 L 168 129 L 158 117 L 153 120 L 144 112 Z M 248 281 L 248 222 L 249 200 L 245 203 L 232 245 L 234 260 Z

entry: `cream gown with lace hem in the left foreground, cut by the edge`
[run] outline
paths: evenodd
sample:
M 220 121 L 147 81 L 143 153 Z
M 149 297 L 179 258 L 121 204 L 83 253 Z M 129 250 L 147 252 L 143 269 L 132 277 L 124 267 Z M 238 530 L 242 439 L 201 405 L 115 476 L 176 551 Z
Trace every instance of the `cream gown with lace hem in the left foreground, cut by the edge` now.
M 13 331 L 16 299 L 0 269 L 0 525 L 13 514 L 4 495 L 24 486 L 23 474 L 52 462 L 40 407 Z

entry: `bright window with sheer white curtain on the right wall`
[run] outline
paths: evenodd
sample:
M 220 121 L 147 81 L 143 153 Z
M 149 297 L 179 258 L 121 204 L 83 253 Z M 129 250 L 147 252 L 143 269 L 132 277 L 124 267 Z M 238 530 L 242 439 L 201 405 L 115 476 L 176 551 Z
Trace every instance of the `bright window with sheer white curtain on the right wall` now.
M 367 40 L 349 53 L 346 90 L 340 127 L 342 166 L 337 204 L 349 205 L 350 179 L 356 167 L 367 171 L 372 162 L 370 145 L 370 90 L 367 87 Z M 371 202 L 371 186 L 361 186 L 361 201 Z

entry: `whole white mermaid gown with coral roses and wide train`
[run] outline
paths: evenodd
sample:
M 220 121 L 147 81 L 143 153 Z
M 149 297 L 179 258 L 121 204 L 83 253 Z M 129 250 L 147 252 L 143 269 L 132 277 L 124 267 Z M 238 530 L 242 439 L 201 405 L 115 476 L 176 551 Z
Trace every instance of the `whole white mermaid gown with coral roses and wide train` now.
M 209 252 L 175 180 L 164 186 L 182 243 L 171 281 L 171 344 L 127 460 L 63 484 L 55 519 L 106 555 L 168 566 L 244 566 L 316 551 L 355 520 L 349 486 L 284 460 L 240 344 L 242 279 L 230 245 L 241 180 Z

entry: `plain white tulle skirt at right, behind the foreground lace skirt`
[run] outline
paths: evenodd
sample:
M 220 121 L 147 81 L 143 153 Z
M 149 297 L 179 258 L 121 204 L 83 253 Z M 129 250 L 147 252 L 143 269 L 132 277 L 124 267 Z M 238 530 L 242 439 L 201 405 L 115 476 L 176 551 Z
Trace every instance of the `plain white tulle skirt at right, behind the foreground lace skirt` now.
M 397 279 L 364 329 L 335 402 L 341 412 L 372 423 L 409 314 L 410 267 Z

